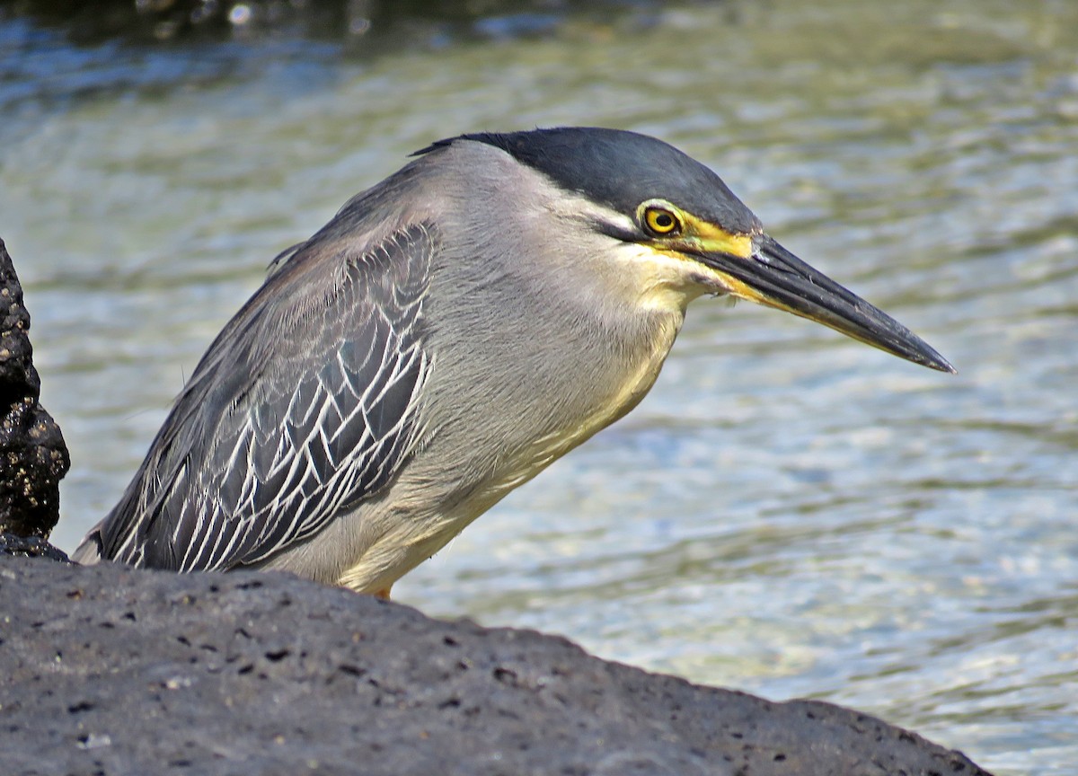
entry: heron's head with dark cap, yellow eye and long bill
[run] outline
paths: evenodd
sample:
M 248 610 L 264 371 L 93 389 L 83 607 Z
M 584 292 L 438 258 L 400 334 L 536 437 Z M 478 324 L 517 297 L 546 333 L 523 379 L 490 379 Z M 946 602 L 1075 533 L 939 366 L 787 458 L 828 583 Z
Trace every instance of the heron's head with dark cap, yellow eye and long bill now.
M 770 237 L 713 170 L 672 146 L 636 133 L 561 127 L 475 134 L 540 174 L 564 207 L 549 207 L 550 231 L 531 239 L 566 245 L 606 239 L 607 255 L 640 287 L 648 304 L 681 306 L 729 294 L 786 310 L 943 372 L 951 364 L 890 316 L 810 266 Z M 514 197 L 527 192 L 508 192 Z M 557 203 L 555 203 L 557 204 Z

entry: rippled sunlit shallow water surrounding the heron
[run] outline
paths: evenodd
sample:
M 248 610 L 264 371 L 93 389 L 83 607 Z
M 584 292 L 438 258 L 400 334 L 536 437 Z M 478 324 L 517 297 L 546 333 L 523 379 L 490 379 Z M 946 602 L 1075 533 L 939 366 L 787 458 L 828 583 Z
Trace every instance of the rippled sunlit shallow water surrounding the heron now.
M 0 236 L 73 459 L 54 539 L 115 501 L 268 260 L 405 154 L 633 128 L 959 374 L 702 300 L 640 407 L 396 597 L 1078 773 L 1078 6 L 646 11 L 376 56 L 0 25 Z

